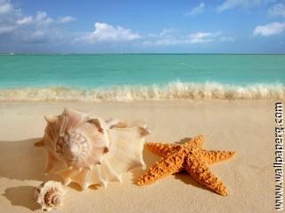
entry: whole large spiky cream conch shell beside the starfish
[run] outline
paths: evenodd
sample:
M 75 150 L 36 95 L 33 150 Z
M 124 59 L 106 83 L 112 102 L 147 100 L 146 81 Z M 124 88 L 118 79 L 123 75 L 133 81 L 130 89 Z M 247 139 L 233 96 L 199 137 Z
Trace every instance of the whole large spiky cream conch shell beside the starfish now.
M 106 186 L 121 182 L 128 170 L 145 168 L 142 149 L 149 131 L 143 127 L 91 119 L 72 109 L 45 120 L 46 173 L 58 174 L 65 185 Z

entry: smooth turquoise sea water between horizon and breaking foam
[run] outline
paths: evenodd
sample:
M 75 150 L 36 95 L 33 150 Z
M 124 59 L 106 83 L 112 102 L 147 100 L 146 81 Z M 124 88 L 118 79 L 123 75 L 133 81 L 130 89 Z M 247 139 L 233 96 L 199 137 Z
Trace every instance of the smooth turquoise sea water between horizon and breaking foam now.
M 44 85 L 285 83 L 285 55 L 0 56 L 1 88 Z

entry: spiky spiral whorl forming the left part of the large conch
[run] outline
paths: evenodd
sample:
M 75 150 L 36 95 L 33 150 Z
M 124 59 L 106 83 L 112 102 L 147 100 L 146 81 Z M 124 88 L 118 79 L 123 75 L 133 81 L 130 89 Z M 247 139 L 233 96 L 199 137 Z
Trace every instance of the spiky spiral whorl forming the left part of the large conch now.
M 107 124 L 71 109 L 45 120 L 46 173 L 67 167 L 92 169 L 94 164 L 101 164 L 110 145 L 104 134 Z

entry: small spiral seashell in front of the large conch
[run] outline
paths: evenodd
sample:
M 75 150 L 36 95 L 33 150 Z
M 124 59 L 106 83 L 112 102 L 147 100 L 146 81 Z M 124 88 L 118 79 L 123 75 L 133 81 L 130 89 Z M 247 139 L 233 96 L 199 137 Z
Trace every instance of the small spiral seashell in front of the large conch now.
M 42 210 L 57 209 L 63 205 L 65 189 L 60 182 L 47 181 L 39 185 L 35 191 L 35 201 Z

